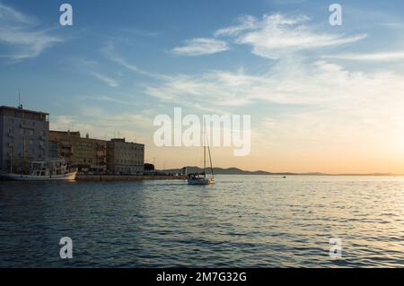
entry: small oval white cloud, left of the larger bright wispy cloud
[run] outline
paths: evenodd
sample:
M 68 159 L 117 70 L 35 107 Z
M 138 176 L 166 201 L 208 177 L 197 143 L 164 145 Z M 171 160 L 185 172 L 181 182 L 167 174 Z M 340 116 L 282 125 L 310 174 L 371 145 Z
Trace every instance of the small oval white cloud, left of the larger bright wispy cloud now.
M 172 49 L 172 53 L 182 56 L 201 56 L 223 52 L 229 49 L 226 42 L 218 39 L 198 38 L 187 40 L 185 46 Z

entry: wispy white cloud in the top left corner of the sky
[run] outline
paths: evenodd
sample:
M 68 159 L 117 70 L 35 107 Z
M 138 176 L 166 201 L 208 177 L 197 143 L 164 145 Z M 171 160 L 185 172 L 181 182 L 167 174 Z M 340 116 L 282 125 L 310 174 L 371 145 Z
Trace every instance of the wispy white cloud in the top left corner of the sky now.
M 63 39 L 52 35 L 49 30 L 37 28 L 38 21 L 13 7 L 0 3 L 0 44 L 10 49 L 2 57 L 12 61 L 40 56 L 46 49 Z

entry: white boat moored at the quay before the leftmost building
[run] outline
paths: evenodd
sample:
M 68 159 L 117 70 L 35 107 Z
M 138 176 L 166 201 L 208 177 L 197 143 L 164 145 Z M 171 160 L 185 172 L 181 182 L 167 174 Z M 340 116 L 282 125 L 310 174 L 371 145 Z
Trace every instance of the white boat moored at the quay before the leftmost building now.
M 77 169 L 69 170 L 65 160 L 30 161 L 24 172 L 1 172 L 0 179 L 18 181 L 75 180 Z

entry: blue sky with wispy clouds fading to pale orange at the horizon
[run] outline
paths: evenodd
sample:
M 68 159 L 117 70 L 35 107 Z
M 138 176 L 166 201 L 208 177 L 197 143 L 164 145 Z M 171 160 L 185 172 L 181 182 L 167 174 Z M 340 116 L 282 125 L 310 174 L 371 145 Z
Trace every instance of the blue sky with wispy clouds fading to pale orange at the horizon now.
M 403 35 L 393 0 L 0 0 L 0 105 L 21 90 L 51 129 L 145 143 L 160 169 L 202 164 L 154 144 L 154 117 L 182 108 L 250 115 L 250 154 L 215 148 L 215 167 L 404 174 Z

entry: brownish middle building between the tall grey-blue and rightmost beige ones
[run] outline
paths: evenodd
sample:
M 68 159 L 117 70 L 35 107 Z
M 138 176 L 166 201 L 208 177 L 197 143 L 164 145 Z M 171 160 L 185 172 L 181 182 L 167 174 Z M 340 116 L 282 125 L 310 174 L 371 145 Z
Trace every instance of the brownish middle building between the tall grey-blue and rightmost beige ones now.
M 49 131 L 49 153 L 64 158 L 70 167 L 83 171 L 105 172 L 107 169 L 107 142 L 92 139 L 80 132 Z

